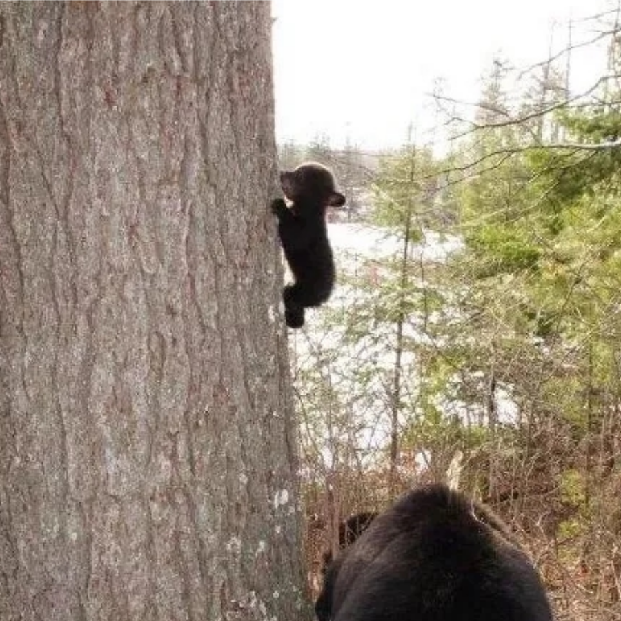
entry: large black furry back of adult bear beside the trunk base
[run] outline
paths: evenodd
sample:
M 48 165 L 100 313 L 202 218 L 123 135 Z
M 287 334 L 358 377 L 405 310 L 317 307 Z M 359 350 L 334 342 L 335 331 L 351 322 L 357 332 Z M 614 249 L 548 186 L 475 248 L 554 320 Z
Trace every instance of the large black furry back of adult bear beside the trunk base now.
M 404 495 L 331 563 L 320 621 L 551 621 L 539 575 L 488 509 L 443 485 Z

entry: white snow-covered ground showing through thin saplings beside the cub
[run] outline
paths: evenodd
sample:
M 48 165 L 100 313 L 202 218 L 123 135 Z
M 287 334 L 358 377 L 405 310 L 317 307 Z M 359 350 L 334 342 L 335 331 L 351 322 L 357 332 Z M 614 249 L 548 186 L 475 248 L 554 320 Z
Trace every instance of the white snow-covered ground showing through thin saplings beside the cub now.
M 386 228 L 369 226 L 359 222 L 332 222 L 328 224 L 328 235 L 333 247 L 337 273 L 341 275 L 330 301 L 322 308 L 306 311 L 306 324 L 302 331 L 290 331 L 290 344 L 297 370 L 315 371 L 323 378 L 318 384 L 299 386 L 299 394 L 305 408 L 324 407 L 311 403 L 316 395 L 313 391 L 330 391 L 337 397 L 328 398 L 328 410 L 313 416 L 313 423 L 306 427 L 303 435 L 311 434 L 310 441 L 319 449 L 326 466 L 335 458 L 337 444 L 355 447 L 357 459 L 366 462 L 382 455 L 389 442 L 391 431 L 391 407 L 389 391 L 393 386 L 395 366 L 395 326 L 377 322 L 368 333 L 357 333 L 355 337 L 346 334 L 346 326 L 339 322 L 329 322 L 330 311 L 344 315 L 356 312 L 355 309 L 371 302 L 373 292 L 357 288 L 351 282 L 344 282 L 344 273 L 349 275 L 372 275 L 381 280 L 386 272 L 373 265 L 375 261 L 399 259 L 404 241 Z M 426 231 L 422 242 L 411 244 L 411 262 L 442 262 L 451 253 L 462 248 L 459 237 L 440 235 Z M 371 262 L 371 265 L 369 264 Z M 337 278 L 338 281 L 338 278 Z M 354 322 L 355 323 L 355 322 Z M 415 342 L 426 342 L 427 335 L 422 331 L 422 323 L 411 317 L 404 326 L 404 334 Z M 402 402 L 409 404 L 404 408 L 411 412 L 417 402 L 417 373 L 419 364 L 415 352 L 404 351 L 401 355 Z M 317 375 L 318 374 L 318 375 Z M 313 375 L 311 373 L 311 375 Z M 308 382 L 308 375 L 306 376 Z M 458 380 L 455 380 L 458 381 Z M 308 391 L 311 393 L 308 393 Z M 310 398 L 310 401 L 309 401 Z M 333 399 L 333 400 L 330 400 Z M 455 400 L 438 400 L 438 408 L 447 415 L 458 415 L 463 420 L 471 417 L 484 418 L 484 412 L 472 405 Z M 509 389 L 500 389 L 497 394 L 500 417 L 508 423 L 517 419 L 517 405 L 511 399 Z M 406 424 L 401 420 L 400 424 Z M 335 442 L 337 444 L 335 444 Z

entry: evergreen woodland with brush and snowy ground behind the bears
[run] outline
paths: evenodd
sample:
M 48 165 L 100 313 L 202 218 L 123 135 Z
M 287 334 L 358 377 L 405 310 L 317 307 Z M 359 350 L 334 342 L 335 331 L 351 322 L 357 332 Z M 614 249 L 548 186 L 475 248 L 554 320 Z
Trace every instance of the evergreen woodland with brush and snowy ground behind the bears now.
M 415 126 L 384 152 L 280 146 L 349 198 L 338 293 L 292 340 L 315 589 L 339 520 L 448 476 L 520 535 L 560 619 L 621 618 L 618 9 L 591 26 L 587 88 L 571 43 L 499 57 L 474 106 L 436 93 L 440 148 Z

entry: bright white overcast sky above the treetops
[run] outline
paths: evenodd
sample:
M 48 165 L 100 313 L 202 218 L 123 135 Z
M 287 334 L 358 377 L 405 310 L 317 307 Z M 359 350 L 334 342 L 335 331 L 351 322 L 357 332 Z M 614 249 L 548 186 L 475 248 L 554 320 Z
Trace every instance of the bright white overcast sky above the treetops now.
M 476 101 L 480 76 L 499 52 L 520 68 L 567 41 L 570 18 L 611 0 L 273 0 L 276 126 L 279 141 L 326 135 L 362 148 L 403 144 L 408 125 L 433 125 L 425 95 Z M 574 33 L 590 39 L 591 30 Z M 600 56 L 576 52 L 573 84 L 601 75 Z M 422 129 L 424 133 L 424 129 Z

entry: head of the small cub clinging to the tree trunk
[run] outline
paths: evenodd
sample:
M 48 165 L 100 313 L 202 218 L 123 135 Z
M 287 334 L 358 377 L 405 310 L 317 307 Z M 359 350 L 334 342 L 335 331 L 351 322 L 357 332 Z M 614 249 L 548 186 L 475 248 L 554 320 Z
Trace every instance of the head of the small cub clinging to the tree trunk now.
M 295 170 L 280 173 L 284 195 L 293 203 L 321 204 L 323 207 L 342 207 L 345 197 L 335 189 L 334 176 L 329 168 L 307 162 Z

